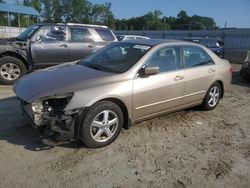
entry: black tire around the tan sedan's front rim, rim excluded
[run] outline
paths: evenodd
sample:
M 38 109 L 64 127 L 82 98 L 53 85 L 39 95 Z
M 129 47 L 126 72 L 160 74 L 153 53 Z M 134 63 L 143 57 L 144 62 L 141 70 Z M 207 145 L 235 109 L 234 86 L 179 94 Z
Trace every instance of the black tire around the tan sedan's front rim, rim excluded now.
M 118 127 L 116 129 L 116 132 L 111 139 L 109 139 L 106 142 L 97 142 L 91 137 L 90 126 L 91 126 L 93 119 L 100 112 L 102 112 L 104 110 L 112 110 L 113 112 L 115 112 L 116 115 L 118 116 L 119 123 L 118 123 Z M 85 112 L 85 115 L 82 116 L 82 121 L 81 121 L 81 125 L 80 125 L 80 139 L 89 148 L 100 148 L 100 147 L 107 146 L 107 145 L 111 144 L 117 138 L 117 136 L 120 134 L 121 129 L 123 127 L 123 120 L 124 120 L 124 117 L 123 117 L 122 110 L 120 109 L 120 107 L 117 104 L 115 104 L 111 101 L 97 102 L 93 106 L 89 107 L 89 109 L 87 109 L 87 112 Z

